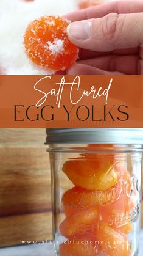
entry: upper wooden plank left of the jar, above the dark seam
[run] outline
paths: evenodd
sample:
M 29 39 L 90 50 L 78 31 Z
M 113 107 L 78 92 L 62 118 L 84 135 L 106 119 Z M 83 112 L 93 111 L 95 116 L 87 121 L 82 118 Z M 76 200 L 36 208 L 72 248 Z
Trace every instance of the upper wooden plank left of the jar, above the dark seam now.
M 51 211 L 45 131 L 0 130 L 0 216 Z

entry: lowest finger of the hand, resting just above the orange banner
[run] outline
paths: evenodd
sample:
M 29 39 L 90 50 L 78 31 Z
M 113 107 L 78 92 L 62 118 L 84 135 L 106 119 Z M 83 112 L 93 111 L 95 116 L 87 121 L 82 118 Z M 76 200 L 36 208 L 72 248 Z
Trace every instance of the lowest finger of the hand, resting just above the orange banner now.
M 74 64 L 66 71 L 67 75 L 123 75 L 120 72 L 108 72 L 85 64 Z

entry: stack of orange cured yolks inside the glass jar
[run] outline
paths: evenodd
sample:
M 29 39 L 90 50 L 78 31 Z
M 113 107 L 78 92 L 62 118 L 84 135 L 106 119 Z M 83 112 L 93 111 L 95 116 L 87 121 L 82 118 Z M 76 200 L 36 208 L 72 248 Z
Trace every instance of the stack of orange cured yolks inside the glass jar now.
M 136 207 L 136 189 L 113 152 L 101 158 L 94 148 L 97 145 L 89 145 L 90 153 L 69 159 L 62 167 L 74 187 L 61 197 L 65 219 L 60 233 L 68 241 L 60 245 L 60 255 L 130 256 L 133 248 L 127 235 L 133 231 L 130 213 Z

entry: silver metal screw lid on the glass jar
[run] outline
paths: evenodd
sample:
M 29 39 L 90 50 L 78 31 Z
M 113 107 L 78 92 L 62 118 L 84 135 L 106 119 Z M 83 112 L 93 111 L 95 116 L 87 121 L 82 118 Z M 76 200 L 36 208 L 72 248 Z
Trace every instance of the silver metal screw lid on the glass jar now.
M 46 144 L 142 144 L 143 129 L 46 129 Z

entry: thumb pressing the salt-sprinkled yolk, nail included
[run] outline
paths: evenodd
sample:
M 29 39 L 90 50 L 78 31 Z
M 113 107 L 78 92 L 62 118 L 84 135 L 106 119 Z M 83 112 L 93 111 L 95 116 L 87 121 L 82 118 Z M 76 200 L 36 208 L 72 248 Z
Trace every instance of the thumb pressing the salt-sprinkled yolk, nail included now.
M 103 18 L 77 21 L 67 28 L 69 40 L 92 51 L 143 46 L 143 13 L 110 13 Z

